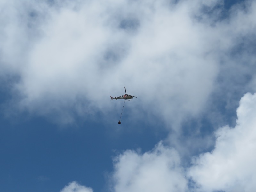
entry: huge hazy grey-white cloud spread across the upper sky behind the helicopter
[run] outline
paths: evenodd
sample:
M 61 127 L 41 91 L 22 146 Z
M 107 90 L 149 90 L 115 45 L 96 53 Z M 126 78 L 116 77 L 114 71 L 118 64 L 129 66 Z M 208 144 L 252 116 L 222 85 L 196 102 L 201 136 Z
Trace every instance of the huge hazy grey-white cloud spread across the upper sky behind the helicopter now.
M 204 110 L 223 65 L 255 58 L 228 54 L 254 34 L 248 2 L 220 19 L 219 0 L 1 1 L 1 74 L 19 77 L 12 107 L 72 123 L 111 111 L 126 86 L 135 113 L 178 130 Z

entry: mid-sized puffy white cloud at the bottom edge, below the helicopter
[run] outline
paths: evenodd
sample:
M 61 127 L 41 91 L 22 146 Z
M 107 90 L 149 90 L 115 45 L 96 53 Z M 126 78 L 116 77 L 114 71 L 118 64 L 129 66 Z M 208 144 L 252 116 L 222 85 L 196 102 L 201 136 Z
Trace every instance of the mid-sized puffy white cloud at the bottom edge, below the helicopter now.
M 127 150 L 116 157 L 113 190 L 185 191 L 187 180 L 178 153 L 161 142 L 144 154 Z

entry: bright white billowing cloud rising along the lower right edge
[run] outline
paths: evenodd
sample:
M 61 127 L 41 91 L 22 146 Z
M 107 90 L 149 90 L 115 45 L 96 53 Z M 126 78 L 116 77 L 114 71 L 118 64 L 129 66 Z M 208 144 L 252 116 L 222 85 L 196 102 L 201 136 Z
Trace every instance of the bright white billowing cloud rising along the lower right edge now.
M 237 108 L 234 128 L 216 132 L 212 152 L 194 159 L 188 172 L 198 191 L 253 191 L 256 187 L 256 94 L 247 93 Z

